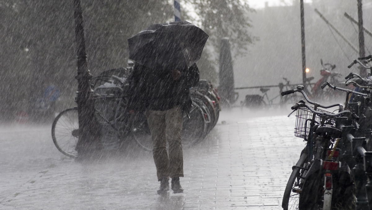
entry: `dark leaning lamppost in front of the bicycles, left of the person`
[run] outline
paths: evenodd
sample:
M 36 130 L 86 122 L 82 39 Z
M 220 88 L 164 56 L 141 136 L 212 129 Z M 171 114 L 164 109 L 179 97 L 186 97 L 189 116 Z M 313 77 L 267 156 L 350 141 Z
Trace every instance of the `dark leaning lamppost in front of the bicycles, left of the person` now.
M 93 122 L 90 79 L 92 75 L 88 70 L 87 54 L 85 50 L 83 15 L 80 0 L 74 0 L 74 18 L 75 18 L 75 37 L 77 45 L 77 74 L 78 81 L 76 103 L 79 120 L 79 135 L 76 150 L 78 154 L 85 153 L 92 149 L 92 132 L 89 131 L 90 123 Z

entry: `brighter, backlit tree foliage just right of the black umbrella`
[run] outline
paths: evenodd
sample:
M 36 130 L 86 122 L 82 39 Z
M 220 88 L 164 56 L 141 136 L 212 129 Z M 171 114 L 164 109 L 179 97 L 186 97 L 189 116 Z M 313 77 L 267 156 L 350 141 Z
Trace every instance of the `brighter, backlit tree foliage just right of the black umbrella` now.
M 241 0 L 185 1 L 193 6 L 198 16 L 183 14 L 209 35 L 202 58 L 198 62 L 201 66 L 201 78 L 216 83 L 221 38 L 230 38 L 230 50 L 235 52 L 234 57 L 244 56 L 248 46 L 257 40 L 249 32 L 252 25 L 248 15 L 254 10 Z

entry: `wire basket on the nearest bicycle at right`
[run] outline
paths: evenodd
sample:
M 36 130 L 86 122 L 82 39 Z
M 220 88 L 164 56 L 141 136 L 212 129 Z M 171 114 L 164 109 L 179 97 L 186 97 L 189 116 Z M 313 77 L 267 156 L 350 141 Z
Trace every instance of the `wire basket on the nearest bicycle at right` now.
M 331 113 L 321 109 L 317 109 L 319 112 Z M 295 137 L 306 139 L 310 132 L 310 124 L 312 121 L 312 113 L 307 107 L 299 107 L 296 113 L 296 124 L 295 124 Z M 335 120 L 327 116 L 321 116 L 315 114 L 315 124 L 321 124 L 324 120 L 324 125 L 335 125 Z

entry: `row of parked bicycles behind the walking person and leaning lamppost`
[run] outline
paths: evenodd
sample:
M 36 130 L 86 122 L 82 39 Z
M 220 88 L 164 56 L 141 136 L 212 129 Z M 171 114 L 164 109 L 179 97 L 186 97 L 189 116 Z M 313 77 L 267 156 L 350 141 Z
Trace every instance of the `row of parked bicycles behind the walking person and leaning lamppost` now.
M 104 148 L 120 148 L 135 141 L 144 150 L 152 151 L 153 142 L 144 113 L 130 115 L 127 110 L 127 78 L 129 68 L 110 69 L 91 80 L 94 104 L 95 135 Z M 192 109 L 183 116 L 183 146 L 191 147 L 202 141 L 218 121 L 220 97 L 211 82 L 200 80 L 190 89 Z M 66 109 L 55 117 L 52 139 L 58 150 L 66 156 L 77 157 L 79 137 L 77 107 Z

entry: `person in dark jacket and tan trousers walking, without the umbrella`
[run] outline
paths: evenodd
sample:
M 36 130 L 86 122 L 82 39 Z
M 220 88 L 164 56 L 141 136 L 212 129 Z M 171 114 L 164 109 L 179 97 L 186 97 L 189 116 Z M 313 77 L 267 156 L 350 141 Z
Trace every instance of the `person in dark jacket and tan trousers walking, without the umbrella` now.
M 169 178 L 173 193 L 183 192 L 182 122 L 192 107 L 189 89 L 198 82 L 195 63 L 190 68 L 161 70 L 135 63 L 128 78 L 129 113 L 144 112 L 150 128 L 158 194 L 169 191 Z

